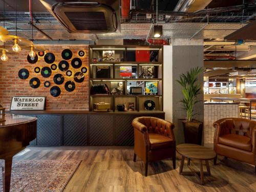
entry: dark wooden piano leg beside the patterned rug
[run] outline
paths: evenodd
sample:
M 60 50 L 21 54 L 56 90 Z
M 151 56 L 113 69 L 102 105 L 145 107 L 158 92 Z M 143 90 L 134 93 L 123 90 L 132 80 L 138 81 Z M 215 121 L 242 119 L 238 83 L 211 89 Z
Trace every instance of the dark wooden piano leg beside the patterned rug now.
M 12 158 L 5 159 L 4 166 L 2 166 L 2 175 L 3 175 L 3 191 L 10 191 L 11 184 L 11 172 L 12 172 Z

